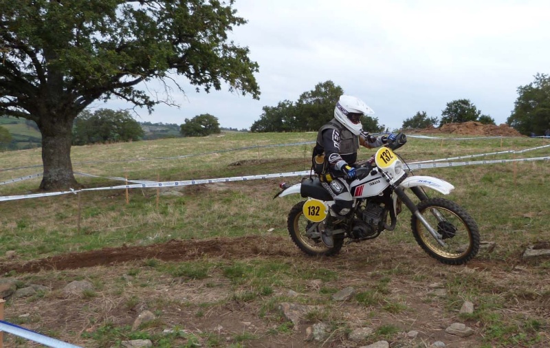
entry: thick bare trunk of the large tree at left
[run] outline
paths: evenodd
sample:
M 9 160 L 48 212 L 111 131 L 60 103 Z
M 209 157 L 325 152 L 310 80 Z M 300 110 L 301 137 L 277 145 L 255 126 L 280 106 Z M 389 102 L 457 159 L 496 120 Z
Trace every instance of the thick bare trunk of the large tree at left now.
M 43 117 L 38 122 L 42 133 L 44 173 L 40 188 L 45 191 L 76 187 L 71 162 L 72 117 Z

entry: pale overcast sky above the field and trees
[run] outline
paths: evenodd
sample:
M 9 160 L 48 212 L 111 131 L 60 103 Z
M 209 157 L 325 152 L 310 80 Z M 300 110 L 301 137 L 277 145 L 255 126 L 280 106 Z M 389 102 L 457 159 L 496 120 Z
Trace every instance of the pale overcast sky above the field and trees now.
M 514 109 L 517 88 L 536 73 L 550 74 L 546 0 L 236 0 L 234 8 L 248 23 L 231 38 L 260 65 L 260 100 L 227 88 L 196 93 L 180 77 L 186 93 L 172 97 L 181 107 L 159 105 L 151 116 L 138 110 L 138 121 L 181 124 L 210 113 L 221 127 L 250 128 L 263 106 L 295 102 L 332 80 L 390 129 L 417 111 L 440 118 L 456 99 L 469 99 L 500 124 Z

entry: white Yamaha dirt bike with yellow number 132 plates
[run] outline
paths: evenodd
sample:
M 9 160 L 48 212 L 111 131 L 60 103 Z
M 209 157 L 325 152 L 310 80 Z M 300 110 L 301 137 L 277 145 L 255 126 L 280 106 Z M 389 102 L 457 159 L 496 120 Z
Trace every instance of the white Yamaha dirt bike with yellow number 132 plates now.
M 292 194 L 307 198 L 292 207 L 287 219 L 296 246 L 313 256 L 336 255 L 344 241 L 365 241 L 384 230 L 394 230 L 404 204 L 412 213 L 412 235 L 430 257 L 449 265 L 461 265 L 475 257 L 480 241 L 476 221 L 458 204 L 430 198 L 424 191 L 431 188 L 448 195 L 454 189 L 452 184 L 437 177 L 408 175 L 404 160 L 394 152 L 406 141 L 406 135 L 399 133 L 395 141 L 388 141 L 356 168 L 356 178 L 349 182 L 353 208 L 347 217 L 330 213 L 333 193 L 317 175 L 292 186 L 281 184 L 283 190 L 274 198 Z M 411 195 L 419 199 L 418 204 Z M 322 233 L 332 237 L 331 243 L 323 241 Z

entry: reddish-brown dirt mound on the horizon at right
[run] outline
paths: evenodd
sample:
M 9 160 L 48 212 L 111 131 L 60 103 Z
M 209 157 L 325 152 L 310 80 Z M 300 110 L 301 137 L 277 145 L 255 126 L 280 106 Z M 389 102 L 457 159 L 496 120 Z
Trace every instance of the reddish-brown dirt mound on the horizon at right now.
M 485 136 L 504 136 L 504 137 L 522 137 L 516 129 L 509 127 L 503 123 L 483 124 L 481 122 L 462 122 L 462 123 L 446 123 L 439 128 L 428 127 L 426 129 L 418 129 L 415 133 L 421 134 L 460 134 L 460 135 L 485 135 Z

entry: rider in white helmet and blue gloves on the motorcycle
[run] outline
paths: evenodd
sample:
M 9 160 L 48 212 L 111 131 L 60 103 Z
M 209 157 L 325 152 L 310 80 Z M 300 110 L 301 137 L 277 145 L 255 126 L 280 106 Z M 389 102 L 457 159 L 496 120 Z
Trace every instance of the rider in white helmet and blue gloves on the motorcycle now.
M 369 135 L 362 130 L 361 117 L 374 111 L 354 96 L 340 96 L 334 108 L 334 118 L 323 125 L 317 133 L 314 155 L 325 155 L 322 171 L 316 171 L 325 188 L 330 188 L 335 204 L 331 207 L 333 217 L 346 217 L 351 212 L 352 195 L 349 181 L 355 179 L 355 161 L 359 145 L 367 149 L 386 144 L 395 135 Z M 326 236 L 325 236 L 326 237 Z M 325 244 L 329 244 L 323 238 Z

